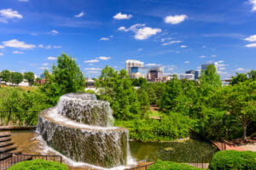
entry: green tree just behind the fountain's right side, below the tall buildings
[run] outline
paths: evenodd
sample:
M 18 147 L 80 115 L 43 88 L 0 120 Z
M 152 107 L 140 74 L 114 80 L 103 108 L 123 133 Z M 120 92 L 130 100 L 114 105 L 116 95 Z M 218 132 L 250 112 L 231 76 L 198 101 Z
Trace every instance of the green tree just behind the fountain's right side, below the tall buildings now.
M 99 88 L 99 99 L 110 103 L 116 119 L 129 120 L 139 115 L 137 92 L 124 69 L 118 73 L 107 65 L 96 80 L 96 88 Z

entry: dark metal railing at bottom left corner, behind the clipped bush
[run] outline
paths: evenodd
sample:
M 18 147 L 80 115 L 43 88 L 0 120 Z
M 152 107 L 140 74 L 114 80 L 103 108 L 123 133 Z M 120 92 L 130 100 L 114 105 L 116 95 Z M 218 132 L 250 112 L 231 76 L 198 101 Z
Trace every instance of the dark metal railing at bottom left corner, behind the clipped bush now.
M 12 154 L 12 153 L 2 153 L 0 157 L 6 157 L 2 161 L 0 161 L 0 169 L 8 169 L 9 167 L 15 165 L 20 161 L 29 161 L 29 160 L 36 160 L 41 159 L 45 161 L 57 161 L 62 162 L 61 156 L 40 156 L 40 155 L 30 155 L 30 154 Z

